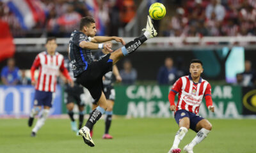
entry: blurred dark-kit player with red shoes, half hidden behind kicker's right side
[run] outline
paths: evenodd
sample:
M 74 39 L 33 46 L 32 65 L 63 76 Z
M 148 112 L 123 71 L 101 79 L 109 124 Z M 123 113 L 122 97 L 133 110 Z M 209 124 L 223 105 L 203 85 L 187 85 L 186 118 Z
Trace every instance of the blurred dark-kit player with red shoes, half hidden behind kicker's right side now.
M 112 48 L 112 43 L 110 43 L 110 44 L 111 44 L 110 48 Z M 108 52 L 106 52 L 106 50 L 102 49 L 102 51 L 99 51 L 94 55 L 94 59 L 96 61 L 99 61 L 107 54 L 108 54 Z M 112 120 L 112 115 L 113 115 L 113 106 L 115 103 L 115 89 L 113 87 L 114 76 L 116 78 L 116 82 L 122 82 L 122 78 L 120 77 L 120 74 L 119 74 L 119 71 L 118 71 L 118 68 L 116 65 L 113 66 L 113 71 L 109 71 L 103 77 L 103 92 L 106 96 L 107 103 L 108 103 L 107 110 L 105 112 L 105 114 L 106 114 L 105 133 L 102 136 L 103 139 L 112 139 L 113 138 L 113 136 L 109 135 L 109 128 L 111 126 L 111 120 Z M 92 110 L 97 108 L 97 106 L 98 106 L 97 102 L 98 101 L 93 101 Z M 90 131 L 90 134 L 92 136 L 92 130 Z

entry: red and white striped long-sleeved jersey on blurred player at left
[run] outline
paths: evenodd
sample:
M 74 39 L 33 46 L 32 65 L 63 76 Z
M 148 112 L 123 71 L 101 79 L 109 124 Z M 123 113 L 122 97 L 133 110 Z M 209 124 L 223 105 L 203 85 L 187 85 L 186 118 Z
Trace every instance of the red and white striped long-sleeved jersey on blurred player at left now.
M 67 79 L 71 79 L 68 75 L 67 68 L 64 66 L 64 57 L 58 52 L 54 55 L 49 55 L 47 52 L 41 52 L 36 55 L 35 61 L 31 67 L 32 81 L 35 80 L 34 73 L 37 68 L 39 68 L 39 75 L 35 89 L 38 91 L 55 92 L 59 71 L 61 71 Z

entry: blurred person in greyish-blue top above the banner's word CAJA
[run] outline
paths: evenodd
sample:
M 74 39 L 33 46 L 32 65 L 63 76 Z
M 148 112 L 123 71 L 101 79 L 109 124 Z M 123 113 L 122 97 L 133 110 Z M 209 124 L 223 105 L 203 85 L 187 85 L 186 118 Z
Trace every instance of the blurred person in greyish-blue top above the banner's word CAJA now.
M 120 71 L 120 76 L 122 78 L 122 84 L 131 85 L 136 82 L 137 71 L 132 68 L 132 63 L 130 60 L 126 59 L 123 64 L 123 69 Z

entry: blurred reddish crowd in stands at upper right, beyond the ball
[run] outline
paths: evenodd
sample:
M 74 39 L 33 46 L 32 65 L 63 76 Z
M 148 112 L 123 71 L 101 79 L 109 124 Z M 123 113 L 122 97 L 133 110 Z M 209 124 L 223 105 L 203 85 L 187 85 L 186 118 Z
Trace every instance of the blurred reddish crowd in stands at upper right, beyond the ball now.
M 163 36 L 251 36 L 255 18 L 255 0 L 182 1 Z

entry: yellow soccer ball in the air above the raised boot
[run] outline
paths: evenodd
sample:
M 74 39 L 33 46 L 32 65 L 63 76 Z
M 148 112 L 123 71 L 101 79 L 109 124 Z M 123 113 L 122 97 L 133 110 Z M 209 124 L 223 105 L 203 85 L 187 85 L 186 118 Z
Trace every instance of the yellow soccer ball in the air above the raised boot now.
M 149 8 L 148 13 L 154 20 L 160 20 L 166 14 L 166 10 L 162 3 L 153 3 Z

